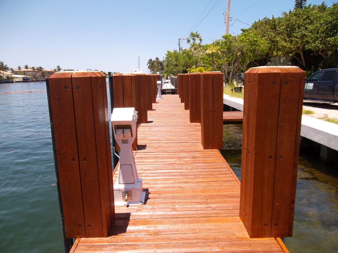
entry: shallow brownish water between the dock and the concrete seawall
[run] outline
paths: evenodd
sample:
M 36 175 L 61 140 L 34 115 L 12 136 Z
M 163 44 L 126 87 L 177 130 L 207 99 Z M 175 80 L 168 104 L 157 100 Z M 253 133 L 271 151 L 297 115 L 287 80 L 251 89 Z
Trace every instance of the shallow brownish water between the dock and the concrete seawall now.
M 241 176 L 242 124 L 223 125 L 221 153 Z M 293 236 L 284 238 L 293 252 L 338 252 L 338 170 L 300 153 Z

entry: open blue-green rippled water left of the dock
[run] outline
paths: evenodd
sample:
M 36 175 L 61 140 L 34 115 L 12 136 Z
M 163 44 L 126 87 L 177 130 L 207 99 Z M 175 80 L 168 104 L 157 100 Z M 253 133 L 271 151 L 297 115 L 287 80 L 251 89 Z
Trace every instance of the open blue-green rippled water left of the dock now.
M 0 251 L 62 252 L 45 82 L 0 84 Z

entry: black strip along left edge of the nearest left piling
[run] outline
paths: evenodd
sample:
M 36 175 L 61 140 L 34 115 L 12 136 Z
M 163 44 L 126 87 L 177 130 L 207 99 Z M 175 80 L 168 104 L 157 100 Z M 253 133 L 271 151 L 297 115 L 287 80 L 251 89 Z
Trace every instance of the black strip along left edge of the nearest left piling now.
M 58 195 L 58 199 L 59 199 L 59 207 L 60 207 L 60 213 L 61 213 L 61 226 L 62 226 L 65 253 L 69 253 L 73 244 L 74 244 L 74 241 L 73 241 L 73 238 L 67 238 L 66 237 L 65 221 L 64 221 L 64 216 L 63 216 L 63 206 L 62 206 L 61 190 L 60 190 L 60 179 L 59 179 L 59 171 L 58 171 L 58 165 L 57 165 L 56 147 L 55 147 L 55 139 L 54 139 L 52 106 L 51 106 L 50 94 L 49 94 L 49 81 L 48 81 L 48 78 L 46 78 L 45 80 L 46 80 L 46 88 L 47 88 L 47 99 L 48 99 L 49 118 L 50 118 L 50 130 L 51 130 L 51 134 L 52 134 L 52 143 L 53 143 L 57 195 Z

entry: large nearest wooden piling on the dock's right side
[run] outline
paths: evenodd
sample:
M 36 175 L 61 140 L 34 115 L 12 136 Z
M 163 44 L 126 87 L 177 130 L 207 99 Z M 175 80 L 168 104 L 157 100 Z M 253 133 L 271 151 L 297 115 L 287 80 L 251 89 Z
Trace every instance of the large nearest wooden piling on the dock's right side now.
M 245 73 L 240 218 L 250 237 L 292 236 L 305 73 Z

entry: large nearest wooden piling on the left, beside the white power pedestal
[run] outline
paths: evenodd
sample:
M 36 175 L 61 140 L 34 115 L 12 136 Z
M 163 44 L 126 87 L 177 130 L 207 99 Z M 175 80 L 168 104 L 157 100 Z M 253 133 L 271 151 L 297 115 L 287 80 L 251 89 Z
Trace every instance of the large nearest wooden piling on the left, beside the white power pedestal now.
M 47 90 L 66 237 L 105 237 L 114 219 L 105 76 L 59 72 Z

